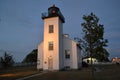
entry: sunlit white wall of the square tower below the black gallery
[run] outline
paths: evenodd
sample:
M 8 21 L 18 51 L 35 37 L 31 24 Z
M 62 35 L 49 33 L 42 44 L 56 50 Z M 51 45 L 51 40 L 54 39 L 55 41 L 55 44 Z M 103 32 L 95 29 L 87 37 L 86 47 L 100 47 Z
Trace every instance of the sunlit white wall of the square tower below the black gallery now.
M 49 25 L 54 25 L 54 33 L 49 33 Z M 60 53 L 62 53 L 62 23 L 59 17 L 52 17 L 44 19 L 44 48 L 43 48 L 43 69 L 48 69 L 48 58 L 51 56 L 53 58 L 53 69 L 59 70 L 60 61 L 59 55 L 62 57 Z M 53 41 L 54 50 L 48 50 L 48 42 Z M 62 60 L 61 60 L 62 61 Z M 46 64 L 45 64 L 46 62 Z M 62 66 L 62 65 L 61 65 Z

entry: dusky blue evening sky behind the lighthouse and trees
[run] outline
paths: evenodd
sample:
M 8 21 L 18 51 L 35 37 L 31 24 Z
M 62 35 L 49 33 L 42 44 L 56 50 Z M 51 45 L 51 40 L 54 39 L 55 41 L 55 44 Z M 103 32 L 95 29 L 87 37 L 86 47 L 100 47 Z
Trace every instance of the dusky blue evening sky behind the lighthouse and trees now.
M 6 51 L 20 62 L 43 40 L 41 13 L 55 4 L 65 23 L 63 32 L 82 38 L 83 15 L 93 12 L 104 25 L 109 58 L 120 57 L 120 0 L 0 0 L 0 56 Z

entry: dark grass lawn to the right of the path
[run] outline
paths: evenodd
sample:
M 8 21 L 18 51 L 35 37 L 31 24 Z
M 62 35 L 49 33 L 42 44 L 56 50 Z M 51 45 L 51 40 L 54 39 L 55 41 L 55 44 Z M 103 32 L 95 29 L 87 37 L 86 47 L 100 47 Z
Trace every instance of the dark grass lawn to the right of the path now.
M 120 80 L 120 65 L 97 65 L 94 80 Z M 82 70 L 49 72 L 26 80 L 93 80 L 91 68 Z

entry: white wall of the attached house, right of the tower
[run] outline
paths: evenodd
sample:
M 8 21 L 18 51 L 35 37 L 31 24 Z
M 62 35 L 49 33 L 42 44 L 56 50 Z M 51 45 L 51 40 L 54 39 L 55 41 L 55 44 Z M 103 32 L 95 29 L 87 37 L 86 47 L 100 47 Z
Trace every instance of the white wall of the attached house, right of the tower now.
M 64 67 L 70 66 L 71 69 L 78 69 L 81 66 L 80 49 L 77 47 L 77 43 L 68 37 L 63 37 L 64 45 Z M 70 59 L 65 58 L 65 50 L 70 50 Z M 78 66 L 80 64 L 80 66 Z

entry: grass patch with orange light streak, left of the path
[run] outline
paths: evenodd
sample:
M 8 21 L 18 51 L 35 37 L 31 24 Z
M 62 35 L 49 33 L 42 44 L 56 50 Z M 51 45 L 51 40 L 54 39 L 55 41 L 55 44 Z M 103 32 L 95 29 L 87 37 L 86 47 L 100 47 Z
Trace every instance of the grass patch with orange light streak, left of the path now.
M 35 66 L 0 69 L 0 80 L 15 80 L 39 72 Z

